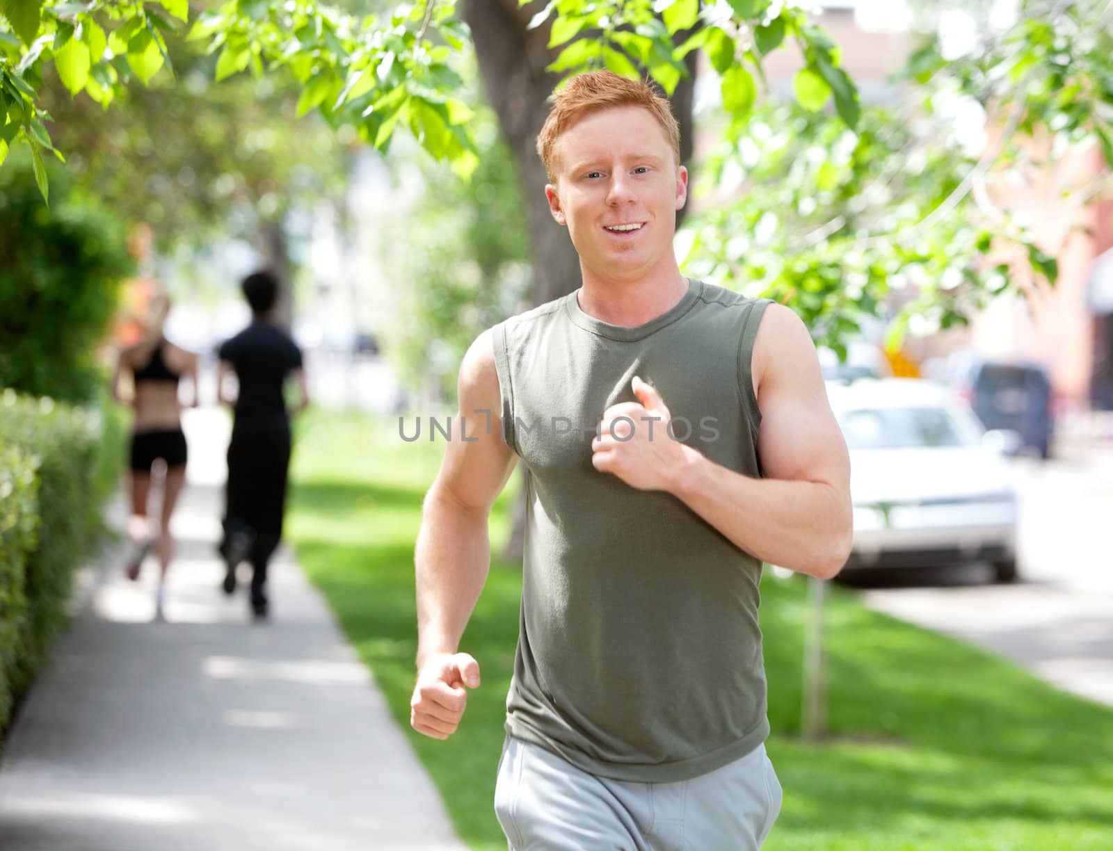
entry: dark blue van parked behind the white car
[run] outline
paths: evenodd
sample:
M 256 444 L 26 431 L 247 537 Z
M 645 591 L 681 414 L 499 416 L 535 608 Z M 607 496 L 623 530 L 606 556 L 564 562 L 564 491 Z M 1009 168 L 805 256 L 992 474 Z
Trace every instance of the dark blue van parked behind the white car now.
M 955 388 L 986 428 L 1017 432 L 1025 449 L 1050 456 L 1051 379 L 1042 366 L 975 359 L 959 369 Z

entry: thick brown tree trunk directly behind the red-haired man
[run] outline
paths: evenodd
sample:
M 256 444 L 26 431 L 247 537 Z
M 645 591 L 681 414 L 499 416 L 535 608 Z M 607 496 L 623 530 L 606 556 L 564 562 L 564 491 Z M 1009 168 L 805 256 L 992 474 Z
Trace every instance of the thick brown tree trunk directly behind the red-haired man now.
M 518 160 L 530 226 L 531 295 L 535 305 L 560 298 L 581 284 L 580 258 L 568 230 L 553 221 L 549 211 L 545 199 L 549 178 L 535 147 L 538 133 L 549 115 L 549 96 L 560 82 L 559 75 L 545 70 L 559 52 L 559 49 L 546 47 L 551 20 L 536 29 L 526 29 L 530 19 L 543 8 L 541 0 L 524 7 L 519 7 L 514 0 L 463 0 L 460 6 L 461 16 L 472 30 L 483 89 Z M 687 65 L 690 76 L 681 80 L 672 96 L 673 113 L 680 122 L 683 161 L 690 159 L 692 150 L 695 52 L 689 55 Z M 506 212 L 514 215 L 512 210 Z M 502 553 L 508 560 L 522 557 L 525 492 L 523 486 L 514 511 L 514 528 Z

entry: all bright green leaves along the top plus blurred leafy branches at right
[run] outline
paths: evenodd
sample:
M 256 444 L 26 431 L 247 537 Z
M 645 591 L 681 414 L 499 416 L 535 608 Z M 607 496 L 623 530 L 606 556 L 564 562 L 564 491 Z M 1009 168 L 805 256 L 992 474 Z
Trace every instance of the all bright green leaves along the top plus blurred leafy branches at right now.
M 522 26 L 548 33 L 548 68 L 559 75 L 646 69 L 670 92 L 689 73 L 689 55 L 707 55 L 722 111 L 709 176 L 735 175 L 745 192 L 692 222 L 689 268 L 789 300 L 836 345 L 863 315 L 894 300 L 904 310 L 898 330 L 914 315 L 927 326 L 962 320 L 1008 288 L 1007 267 L 979 260 L 1003 240 L 1053 281 L 1055 247 L 979 187 L 1031 167 L 1037 149 L 1054 158 L 1092 141 L 1113 162 L 1107 2 L 1022 0 L 1014 20 L 982 19 L 963 49 L 933 34 L 910 58 L 900 102 L 865 110 L 838 46 L 791 0 L 521 4 L 529 10 Z M 126 80 L 164 73 L 166 33 L 189 10 L 185 0 L 6 0 L 3 10 L 0 158 L 24 141 L 46 194 L 41 157 L 52 142 L 38 97 L 43 67 L 52 63 L 71 92 L 107 106 Z M 459 96 L 471 32 L 454 0 L 362 17 L 311 0 L 229 0 L 194 19 L 188 37 L 215 58 L 218 80 L 280 71 L 299 89 L 299 113 L 351 125 L 383 150 L 405 128 L 459 175 L 475 171 L 474 110 Z M 788 46 L 802 59 L 795 103 L 762 106 L 762 59 Z M 982 150 L 953 131 L 962 102 L 976 103 L 993 127 Z M 1097 189 L 1086 187 L 1080 202 Z

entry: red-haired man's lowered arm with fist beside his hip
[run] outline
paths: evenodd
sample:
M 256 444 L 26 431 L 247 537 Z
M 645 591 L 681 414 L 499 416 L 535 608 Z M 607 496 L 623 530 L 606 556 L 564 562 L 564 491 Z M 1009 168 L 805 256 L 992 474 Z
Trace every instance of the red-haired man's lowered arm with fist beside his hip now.
M 491 564 L 487 516 L 515 461 L 502 439 L 490 333 L 464 355 L 459 396 L 452 439 L 425 496 L 415 554 L 417 684 L 411 724 L 436 739 L 456 729 L 466 701 L 462 685 L 479 684 L 477 663 L 457 650 Z

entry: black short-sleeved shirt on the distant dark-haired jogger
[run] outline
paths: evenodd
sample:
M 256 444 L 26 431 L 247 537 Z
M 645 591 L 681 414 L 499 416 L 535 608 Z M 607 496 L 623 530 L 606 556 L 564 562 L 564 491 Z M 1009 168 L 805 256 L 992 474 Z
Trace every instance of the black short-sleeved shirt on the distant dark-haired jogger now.
M 254 321 L 217 349 L 232 364 L 239 379 L 236 419 L 269 419 L 286 416 L 283 384 L 302 367 L 302 349 L 282 328 Z

